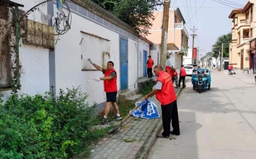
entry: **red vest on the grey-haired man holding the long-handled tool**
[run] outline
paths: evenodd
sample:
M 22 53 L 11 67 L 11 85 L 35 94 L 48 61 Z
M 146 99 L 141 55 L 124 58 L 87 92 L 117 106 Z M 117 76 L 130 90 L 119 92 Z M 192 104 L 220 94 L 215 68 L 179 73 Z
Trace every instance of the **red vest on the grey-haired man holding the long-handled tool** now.
M 177 98 L 170 75 L 161 71 L 157 81 L 162 82 L 162 89 L 157 91 L 156 94 L 157 100 L 161 105 L 167 105 L 174 102 Z

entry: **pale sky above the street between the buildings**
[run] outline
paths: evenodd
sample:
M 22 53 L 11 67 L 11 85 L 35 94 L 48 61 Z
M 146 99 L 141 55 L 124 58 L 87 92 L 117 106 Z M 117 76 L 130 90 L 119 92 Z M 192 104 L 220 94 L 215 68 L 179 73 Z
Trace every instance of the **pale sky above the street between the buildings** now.
M 171 0 L 170 7 L 179 8 L 189 35 L 195 26 L 194 47 L 199 47 L 199 59 L 211 52 L 212 45 L 219 36 L 231 32 L 231 11 L 243 8 L 249 0 Z M 221 4 L 223 3 L 223 4 Z M 163 9 L 163 7 L 161 7 Z M 189 48 L 192 48 L 192 36 L 189 36 Z M 208 48 L 208 49 L 207 49 Z

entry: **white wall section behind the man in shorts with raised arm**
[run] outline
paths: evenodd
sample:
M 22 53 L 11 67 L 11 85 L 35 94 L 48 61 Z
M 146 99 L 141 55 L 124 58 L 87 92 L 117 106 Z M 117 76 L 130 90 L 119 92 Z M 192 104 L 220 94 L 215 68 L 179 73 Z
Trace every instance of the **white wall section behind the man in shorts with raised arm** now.
M 57 11 L 55 6 L 54 9 L 55 13 Z M 94 43 L 90 48 L 84 49 L 86 39 L 83 39 L 81 42 L 81 39 L 85 36 L 80 31 L 110 40 L 110 60 L 114 62 L 118 89 L 120 88 L 119 34 L 76 14 L 72 14 L 72 26 L 70 31 L 59 37 L 61 40 L 58 41 L 55 48 L 56 90 L 81 85 L 82 91 L 89 94 L 89 102 L 102 103 L 106 100 L 103 81 L 96 82 L 93 80 L 87 82 L 87 80 L 104 77 L 104 74 L 101 71 L 81 71 L 84 66 L 90 66 L 87 58 L 102 66 L 102 52 L 98 52 L 99 49 L 97 49 L 102 46 L 101 43 Z M 79 45 L 80 42 L 81 45 Z M 83 54 L 83 59 L 81 59 L 81 54 Z

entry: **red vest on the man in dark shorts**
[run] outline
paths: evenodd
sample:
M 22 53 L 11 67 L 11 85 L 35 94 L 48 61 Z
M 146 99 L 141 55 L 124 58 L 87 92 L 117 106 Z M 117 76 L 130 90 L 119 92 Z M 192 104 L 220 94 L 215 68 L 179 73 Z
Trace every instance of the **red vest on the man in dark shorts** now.
M 116 72 L 116 70 L 112 69 L 112 70 L 108 71 L 107 69 L 105 69 L 104 77 L 110 76 L 111 72 Z M 117 75 L 111 80 L 104 81 L 104 91 L 105 92 L 116 92 L 117 91 L 116 79 L 117 79 Z

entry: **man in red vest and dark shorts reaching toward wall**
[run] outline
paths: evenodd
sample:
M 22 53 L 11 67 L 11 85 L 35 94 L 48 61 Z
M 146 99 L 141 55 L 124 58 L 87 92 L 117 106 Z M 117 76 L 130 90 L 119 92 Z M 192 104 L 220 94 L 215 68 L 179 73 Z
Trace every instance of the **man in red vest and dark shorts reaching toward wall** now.
M 106 106 L 105 106 L 105 115 L 104 119 L 108 118 L 108 113 L 110 111 L 110 105 L 112 104 L 114 107 L 114 110 L 116 112 L 116 118 L 122 119 L 121 115 L 119 114 L 119 108 L 116 104 L 116 94 L 117 94 L 117 85 L 116 85 L 116 70 L 113 68 L 114 63 L 112 61 L 109 61 L 107 64 L 107 69 L 101 68 L 99 65 L 96 65 L 93 63 L 90 59 L 88 59 L 90 64 L 92 64 L 97 70 L 102 71 L 103 74 L 105 74 L 104 77 L 99 77 L 94 80 L 99 82 L 100 80 L 104 81 L 104 91 L 106 92 Z

